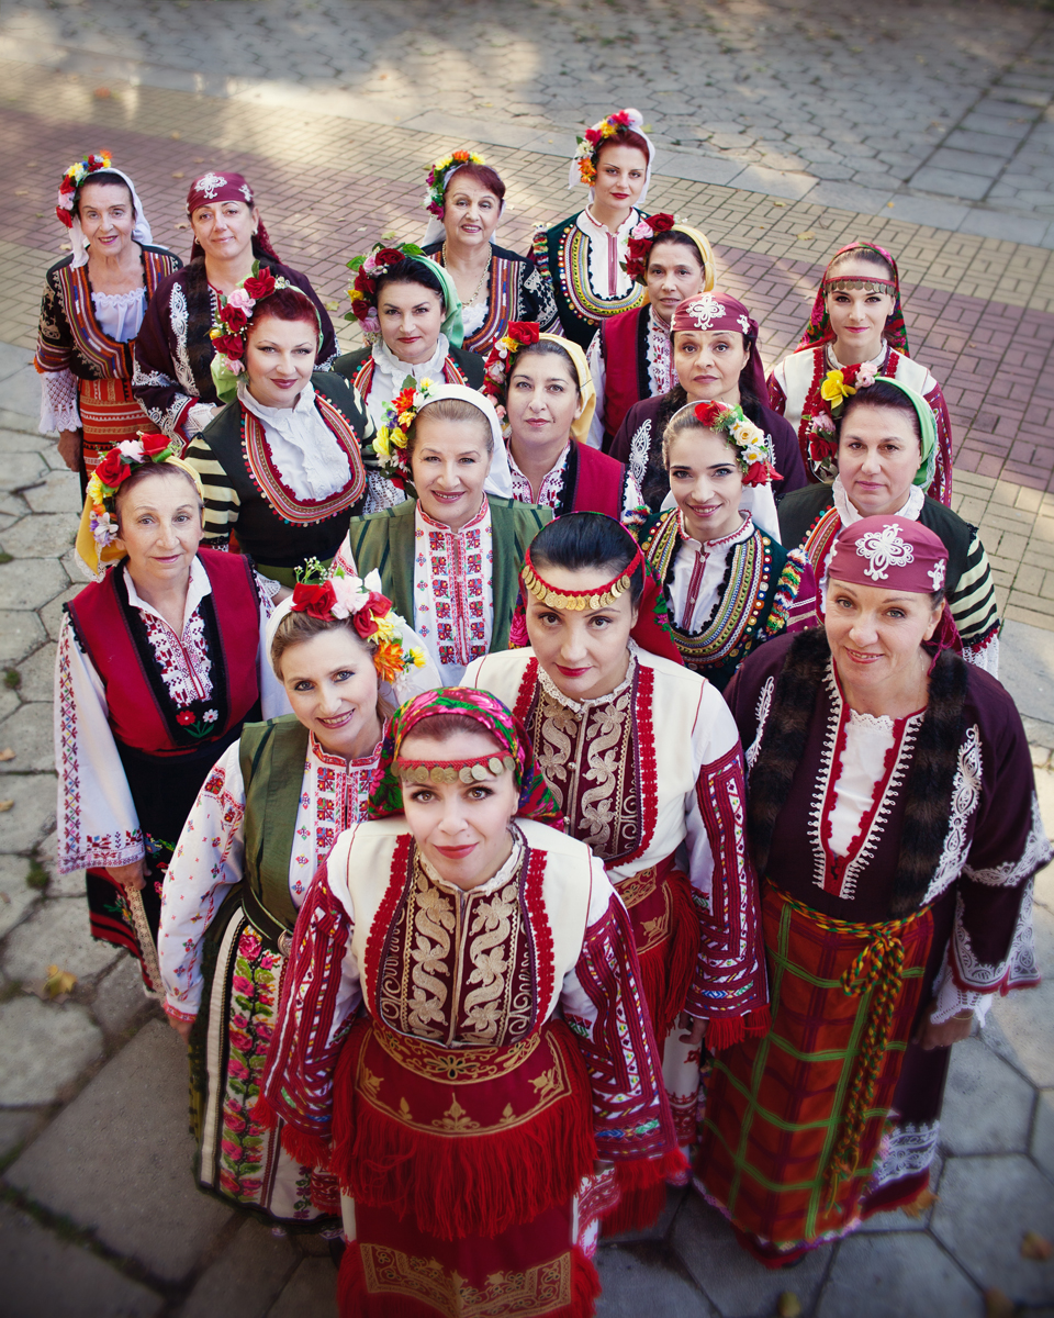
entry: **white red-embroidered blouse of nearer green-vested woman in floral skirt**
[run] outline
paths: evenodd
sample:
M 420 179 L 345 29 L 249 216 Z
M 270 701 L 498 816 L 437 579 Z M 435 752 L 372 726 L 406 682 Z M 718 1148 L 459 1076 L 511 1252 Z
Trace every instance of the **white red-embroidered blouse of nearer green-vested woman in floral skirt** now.
M 289 891 L 299 911 L 315 871 L 340 833 L 366 815 L 379 746 L 345 760 L 308 734 Z M 175 847 L 161 903 L 158 960 L 171 1015 L 190 1019 L 202 998 L 202 941 L 227 896 L 241 882 L 245 851 L 245 782 L 240 743 L 228 746 L 198 793 Z

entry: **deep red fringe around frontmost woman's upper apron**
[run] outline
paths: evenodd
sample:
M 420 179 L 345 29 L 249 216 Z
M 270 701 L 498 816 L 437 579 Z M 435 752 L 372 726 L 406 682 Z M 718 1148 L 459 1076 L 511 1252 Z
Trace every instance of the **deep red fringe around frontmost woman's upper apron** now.
M 403 1126 L 361 1101 L 353 1086 L 365 1037 L 352 1035 L 337 1064 L 329 1165 L 356 1202 L 410 1214 L 440 1240 L 495 1236 L 573 1198 L 593 1170 L 589 1078 L 573 1045 L 561 1049 L 570 1097 L 509 1131 L 451 1136 Z

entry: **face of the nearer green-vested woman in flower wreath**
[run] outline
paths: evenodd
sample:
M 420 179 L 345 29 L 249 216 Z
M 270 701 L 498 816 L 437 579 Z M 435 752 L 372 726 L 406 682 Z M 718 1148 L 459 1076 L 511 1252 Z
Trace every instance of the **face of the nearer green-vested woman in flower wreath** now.
M 282 685 L 292 713 L 323 750 L 362 759 L 381 739 L 377 668 L 350 627 L 333 627 L 282 651 Z

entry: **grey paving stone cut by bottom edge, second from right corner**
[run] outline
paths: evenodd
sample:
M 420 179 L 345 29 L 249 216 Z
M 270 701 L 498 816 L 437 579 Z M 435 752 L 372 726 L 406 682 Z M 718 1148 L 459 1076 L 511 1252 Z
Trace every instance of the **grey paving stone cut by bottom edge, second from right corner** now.
M 796 1272 L 785 1273 L 794 1289 Z M 928 1235 L 858 1235 L 838 1247 L 817 1318 L 982 1318 L 978 1288 Z

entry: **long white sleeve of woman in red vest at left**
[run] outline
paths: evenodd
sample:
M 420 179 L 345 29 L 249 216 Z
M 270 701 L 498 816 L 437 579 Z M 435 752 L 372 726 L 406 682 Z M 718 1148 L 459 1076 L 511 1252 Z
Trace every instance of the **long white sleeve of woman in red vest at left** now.
M 58 867 L 107 870 L 146 854 L 103 680 L 62 619 L 55 659 Z

